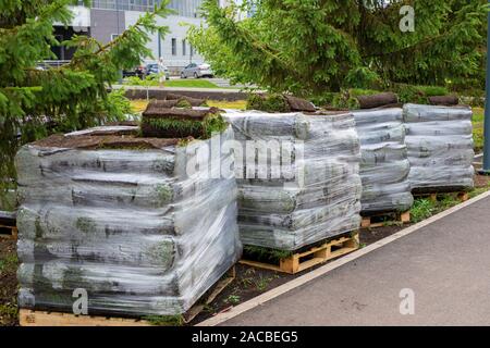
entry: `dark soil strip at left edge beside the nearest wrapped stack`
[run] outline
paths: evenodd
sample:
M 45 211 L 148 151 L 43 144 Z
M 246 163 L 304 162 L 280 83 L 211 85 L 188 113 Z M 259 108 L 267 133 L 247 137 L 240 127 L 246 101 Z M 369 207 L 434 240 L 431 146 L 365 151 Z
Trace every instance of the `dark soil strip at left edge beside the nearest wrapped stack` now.
M 15 240 L 0 238 L 0 326 L 19 325 L 17 263 Z

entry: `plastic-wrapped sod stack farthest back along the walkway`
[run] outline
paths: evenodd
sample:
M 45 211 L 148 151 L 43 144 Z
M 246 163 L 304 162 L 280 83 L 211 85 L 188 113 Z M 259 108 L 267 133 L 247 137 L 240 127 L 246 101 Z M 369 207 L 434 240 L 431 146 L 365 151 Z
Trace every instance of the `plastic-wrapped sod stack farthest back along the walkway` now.
M 412 188 L 417 191 L 473 188 L 471 108 L 406 104 L 403 116 Z

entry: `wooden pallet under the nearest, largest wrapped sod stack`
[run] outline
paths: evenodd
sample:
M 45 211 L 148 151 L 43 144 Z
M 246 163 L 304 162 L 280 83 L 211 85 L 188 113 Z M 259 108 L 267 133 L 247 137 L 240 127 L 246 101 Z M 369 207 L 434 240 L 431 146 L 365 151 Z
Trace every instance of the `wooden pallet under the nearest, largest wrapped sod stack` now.
M 183 315 L 184 323 L 189 323 L 193 321 L 207 304 L 211 303 L 218 295 L 220 295 L 226 286 L 234 281 L 235 276 L 235 268 L 233 266 L 229 271 L 228 276 L 218 282 L 218 284 L 211 288 L 209 295 L 205 296 L 203 301 L 197 302 Z M 150 322 L 139 319 L 75 315 L 70 313 L 34 311 L 28 309 L 20 310 L 19 320 L 21 326 L 152 326 Z

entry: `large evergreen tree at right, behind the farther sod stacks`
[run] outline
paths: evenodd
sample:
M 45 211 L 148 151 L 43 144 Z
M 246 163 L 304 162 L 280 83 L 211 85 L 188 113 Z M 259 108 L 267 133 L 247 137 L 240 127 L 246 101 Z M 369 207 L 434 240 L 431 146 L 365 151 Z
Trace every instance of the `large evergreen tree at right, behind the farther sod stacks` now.
M 415 30 L 404 33 L 407 4 Z M 485 61 L 485 0 L 205 0 L 203 10 L 208 27 L 189 32 L 197 50 L 217 73 L 272 91 L 471 84 Z

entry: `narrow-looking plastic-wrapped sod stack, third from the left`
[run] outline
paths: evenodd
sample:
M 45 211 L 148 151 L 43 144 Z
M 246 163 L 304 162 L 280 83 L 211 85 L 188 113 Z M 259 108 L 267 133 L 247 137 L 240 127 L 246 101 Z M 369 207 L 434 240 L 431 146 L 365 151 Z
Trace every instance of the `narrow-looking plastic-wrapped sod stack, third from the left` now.
M 360 138 L 363 213 L 407 211 L 414 203 L 403 110 L 354 111 Z

